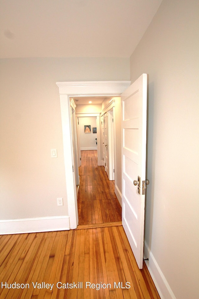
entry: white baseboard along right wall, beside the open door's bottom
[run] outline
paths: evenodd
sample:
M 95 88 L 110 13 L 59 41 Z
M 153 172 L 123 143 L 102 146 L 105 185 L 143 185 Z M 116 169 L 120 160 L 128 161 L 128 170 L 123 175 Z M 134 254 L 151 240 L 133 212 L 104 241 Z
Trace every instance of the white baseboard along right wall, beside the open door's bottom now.
M 158 263 L 156 262 L 153 254 L 146 241 L 144 242 L 144 259 L 149 258 L 145 261 L 149 273 L 155 283 L 155 287 L 160 295 L 161 299 L 176 299 L 174 293 L 172 292 L 169 283 L 167 282 L 164 274 L 162 273 Z

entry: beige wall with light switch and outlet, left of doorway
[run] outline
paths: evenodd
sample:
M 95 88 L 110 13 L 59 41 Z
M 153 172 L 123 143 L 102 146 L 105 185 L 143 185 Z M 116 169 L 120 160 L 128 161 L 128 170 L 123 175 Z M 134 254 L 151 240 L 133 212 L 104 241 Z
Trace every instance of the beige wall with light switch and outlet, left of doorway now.
M 129 80 L 129 59 L 1 59 L 0 220 L 68 215 L 56 82 L 95 80 Z

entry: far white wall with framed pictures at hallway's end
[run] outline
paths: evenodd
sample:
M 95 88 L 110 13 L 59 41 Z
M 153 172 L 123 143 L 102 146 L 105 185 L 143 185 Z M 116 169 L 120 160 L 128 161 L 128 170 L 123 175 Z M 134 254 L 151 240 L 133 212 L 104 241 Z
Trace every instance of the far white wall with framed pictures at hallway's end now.
M 84 126 L 90 125 L 90 133 L 85 133 Z M 97 134 L 93 133 L 96 128 L 96 116 L 79 117 L 79 139 L 80 150 L 97 150 L 96 140 Z

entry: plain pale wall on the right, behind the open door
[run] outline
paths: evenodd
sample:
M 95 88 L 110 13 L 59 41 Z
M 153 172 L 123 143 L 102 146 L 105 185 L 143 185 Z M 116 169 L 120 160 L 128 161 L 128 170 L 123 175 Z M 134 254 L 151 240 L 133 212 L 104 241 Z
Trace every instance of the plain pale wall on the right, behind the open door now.
M 162 298 L 199 298 L 198 16 L 198 1 L 164 0 L 130 59 L 132 82 L 149 74 L 145 254 Z

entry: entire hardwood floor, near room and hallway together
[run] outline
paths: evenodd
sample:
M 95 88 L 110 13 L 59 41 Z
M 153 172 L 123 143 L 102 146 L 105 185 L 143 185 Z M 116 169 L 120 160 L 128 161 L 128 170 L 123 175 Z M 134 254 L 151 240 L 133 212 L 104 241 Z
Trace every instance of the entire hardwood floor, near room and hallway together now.
M 76 230 L 0 235 L 1 299 L 160 299 L 96 154 L 82 153 Z

